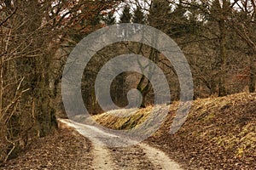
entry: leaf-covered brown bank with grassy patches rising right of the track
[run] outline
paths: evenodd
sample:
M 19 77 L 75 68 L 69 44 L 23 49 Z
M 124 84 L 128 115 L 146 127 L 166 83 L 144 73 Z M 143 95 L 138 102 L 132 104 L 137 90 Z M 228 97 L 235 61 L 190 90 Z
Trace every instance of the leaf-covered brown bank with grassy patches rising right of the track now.
M 174 135 L 169 127 L 178 102 L 171 105 L 166 123 L 147 140 L 187 169 L 254 169 L 256 167 L 256 94 L 234 94 L 194 101 L 187 121 Z M 150 107 L 125 119 L 95 116 L 113 129 L 137 127 Z

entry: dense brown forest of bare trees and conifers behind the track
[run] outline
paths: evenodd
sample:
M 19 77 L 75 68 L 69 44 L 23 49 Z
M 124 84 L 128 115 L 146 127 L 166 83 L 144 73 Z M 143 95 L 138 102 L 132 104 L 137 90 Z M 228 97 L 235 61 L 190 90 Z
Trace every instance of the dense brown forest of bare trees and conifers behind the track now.
M 163 31 L 189 62 L 194 98 L 255 92 L 254 0 L 0 0 L 0 162 L 48 135 L 63 116 L 61 75 L 76 44 L 91 32 L 119 23 Z M 97 72 L 119 54 L 143 54 L 164 71 L 172 100 L 179 99 L 176 71 L 164 55 L 137 42 L 102 48 L 84 68 L 82 93 L 91 114 L 101 113 Z M 143 68 L 142 68 L 143 69 Z M 149 80 L 124 72 L 112 83 L 113 102 L 127 105 L 137 88 L 141 107 L 154 103 Z

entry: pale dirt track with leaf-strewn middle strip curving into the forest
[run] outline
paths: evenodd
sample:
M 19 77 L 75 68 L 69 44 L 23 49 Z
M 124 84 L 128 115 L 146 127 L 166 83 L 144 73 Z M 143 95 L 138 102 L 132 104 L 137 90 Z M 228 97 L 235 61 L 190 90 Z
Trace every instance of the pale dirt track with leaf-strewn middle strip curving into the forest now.
M 140 143 L 127 147 L 108 147 L 104 140 L 109 137 L 119 138 L 113 134 L 103 132 L 97 127 L 71 122 L 61 119 L 67 127 L 74 127 L 92 143 L 92 167 L 98 169 L 182 169 L 177 162 L 172 161 L 165 152 L 148 144 Z M 108 138 L 106 138 L 108 137 Z

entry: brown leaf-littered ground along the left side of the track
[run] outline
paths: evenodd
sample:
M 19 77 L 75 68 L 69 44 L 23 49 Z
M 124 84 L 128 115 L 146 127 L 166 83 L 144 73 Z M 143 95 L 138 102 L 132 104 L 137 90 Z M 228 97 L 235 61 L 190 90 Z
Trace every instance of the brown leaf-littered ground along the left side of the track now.
M 91 150 L 90 140 L 70 127 L 61 127 L 0 165 L 0 170 L 92 169 Z

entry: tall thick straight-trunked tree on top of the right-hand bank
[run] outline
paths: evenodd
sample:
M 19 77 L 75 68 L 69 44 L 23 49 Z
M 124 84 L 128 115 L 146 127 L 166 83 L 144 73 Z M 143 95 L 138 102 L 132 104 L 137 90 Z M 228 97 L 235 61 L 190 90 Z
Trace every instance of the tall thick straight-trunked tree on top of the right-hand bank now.
M 204 20 L 201 28 L 205 31 L 201 31 L 197 37 L 205 39 L 206 42 L 212 42 L 213 53 L 218 52 L 216 61 L 214 61 L 215 67 L 218 70 L 218 74 L 214 73 L 214 81 L 204 80 L 208 83 L 207 87 L 211 88 L 211 94 L 215 94 L 214 89 L 218 87 L 218 96 L 224 96 L 227 94 L 226 89 L 226 74 L 227 74 L 227 60 L 229 58 L 227 54 L 227 41 L 228 41 L 228 26 L 226 25 L 227 19 L 231 14 L 230 2 L 225 0 L 222 3 L 218 0 L 212 1 L 182 1 L 185 8 L 191 9 L 190 12 L 195 12 L 195 9 L 199 12 L 200 20 Z M 191 15 L 190 15 L 191 16 Z M 197 19 L 198 20 L 198 19 Z M 216 41 L 218 40 L 218 42 Z M 205 46 L 207 48 L 207 46 Z M 215 51 L 215 52 L 214 52 Z M 215 69 L 214 69 L 215 70 Z M 212 72 L 213 73 L 213 72 Z M 213 75 L 212 75 L 213 76 Z

